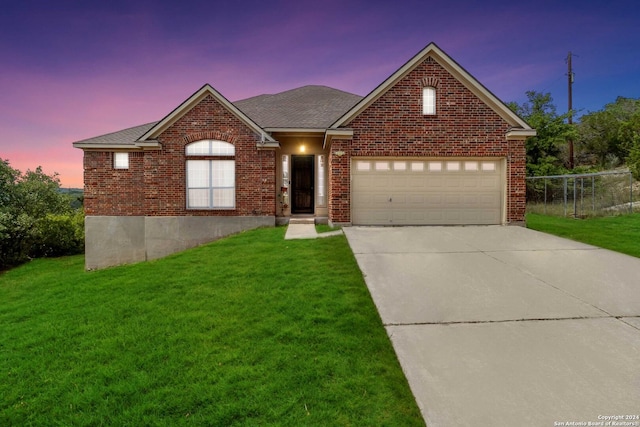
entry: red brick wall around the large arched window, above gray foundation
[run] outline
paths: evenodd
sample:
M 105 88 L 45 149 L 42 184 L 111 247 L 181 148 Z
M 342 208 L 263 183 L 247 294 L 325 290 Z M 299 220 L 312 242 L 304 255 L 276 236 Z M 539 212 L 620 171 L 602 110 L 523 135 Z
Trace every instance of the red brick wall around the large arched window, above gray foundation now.
M 186 208 L 185 145 L 220 139 L 236 148 L 236 208 Z M 275 152 L 259 150 L 259 137 L 212 96 L 165 130 L 161 150 L 136 153 L 139 161 L 125 175 L 105 159 L 111 153 L 85 152 L 87 215 L 275 215 Z M 138 158 L 138 157 L 136 157 Z

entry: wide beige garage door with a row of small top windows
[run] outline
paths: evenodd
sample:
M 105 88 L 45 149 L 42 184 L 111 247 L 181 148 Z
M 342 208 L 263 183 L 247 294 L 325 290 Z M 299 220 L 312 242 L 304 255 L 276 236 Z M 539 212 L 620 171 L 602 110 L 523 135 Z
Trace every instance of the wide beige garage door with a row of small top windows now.
M 355 225 L 500 224 L 501 160 L 355 158 Z

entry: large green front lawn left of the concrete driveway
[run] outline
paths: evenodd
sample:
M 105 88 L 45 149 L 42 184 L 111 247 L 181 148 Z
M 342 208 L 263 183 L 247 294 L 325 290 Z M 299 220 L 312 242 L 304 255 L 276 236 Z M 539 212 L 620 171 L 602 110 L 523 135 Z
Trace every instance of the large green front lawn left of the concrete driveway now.
M 344 236 L 0 275 L 0 425 L 424 425 Z

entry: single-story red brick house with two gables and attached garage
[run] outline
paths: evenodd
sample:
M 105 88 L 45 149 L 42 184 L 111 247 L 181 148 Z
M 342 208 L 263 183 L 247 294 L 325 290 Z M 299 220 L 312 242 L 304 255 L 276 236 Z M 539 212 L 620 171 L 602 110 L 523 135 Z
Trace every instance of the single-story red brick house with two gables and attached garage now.
M 523 224 L 520 117 L 431 43 L 365 97 L 205 84 L 84 150 L 86 267 L 165 256 L 296 215 L 340 225 Z

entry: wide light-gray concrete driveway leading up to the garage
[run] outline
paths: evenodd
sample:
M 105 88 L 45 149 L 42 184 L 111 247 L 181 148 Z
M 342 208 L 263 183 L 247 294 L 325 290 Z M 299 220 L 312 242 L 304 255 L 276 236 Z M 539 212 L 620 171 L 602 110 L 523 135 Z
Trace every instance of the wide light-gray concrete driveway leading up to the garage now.
M 640 259 L 522 227 L 344 232 L 429 427 L 640 426 Z

